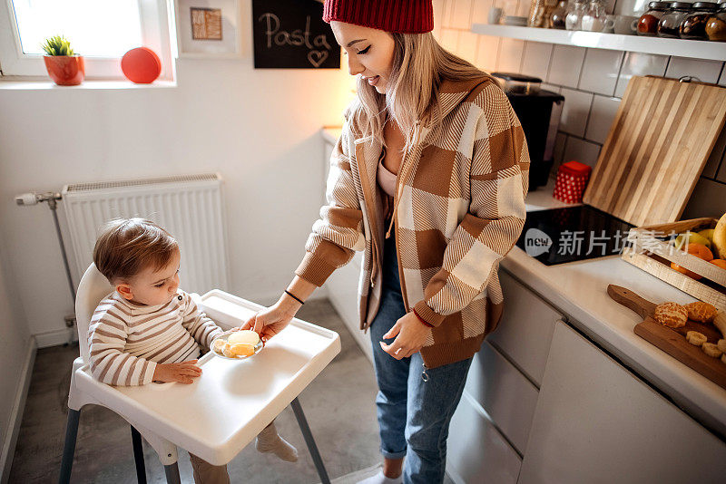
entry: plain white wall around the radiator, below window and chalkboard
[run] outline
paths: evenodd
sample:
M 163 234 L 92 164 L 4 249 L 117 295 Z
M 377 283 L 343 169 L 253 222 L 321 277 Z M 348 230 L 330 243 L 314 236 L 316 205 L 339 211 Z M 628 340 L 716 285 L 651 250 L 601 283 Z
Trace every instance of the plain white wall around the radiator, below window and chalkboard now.
M 30 334 L 63 332 L 73 304 L 47 206 L 13 197 L 69 182 L 219 171 L 229 290 L 269 300 L 289 283 L 322 199 L 319 130 L 341 123 L 351 84 L 345 69 L 255 70 L 250 11 L 243 59 L 182 59 L 176 88 L 0 89 L 0 249 Z

